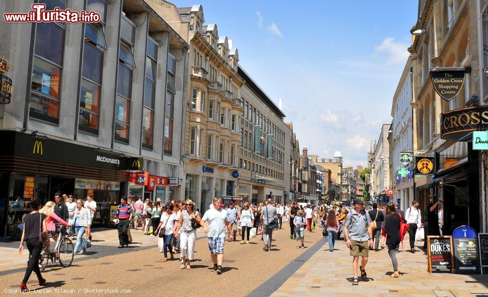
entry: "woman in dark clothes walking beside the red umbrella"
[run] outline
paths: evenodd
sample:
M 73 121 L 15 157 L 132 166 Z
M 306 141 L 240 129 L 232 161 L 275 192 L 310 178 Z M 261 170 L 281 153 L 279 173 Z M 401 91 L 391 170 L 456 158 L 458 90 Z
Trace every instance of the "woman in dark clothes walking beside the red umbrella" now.
M 396 212 L 395 205 L 391 202 L 386 204 L 385 209 L 386 246 L 388 247 L 388 255 L 391 258 L 391 263 L 393 264 L 393 273 L 390 277 L 398 277 L 400 271 L 398 270 L 396 248 L 400 244 L 400 215 Z

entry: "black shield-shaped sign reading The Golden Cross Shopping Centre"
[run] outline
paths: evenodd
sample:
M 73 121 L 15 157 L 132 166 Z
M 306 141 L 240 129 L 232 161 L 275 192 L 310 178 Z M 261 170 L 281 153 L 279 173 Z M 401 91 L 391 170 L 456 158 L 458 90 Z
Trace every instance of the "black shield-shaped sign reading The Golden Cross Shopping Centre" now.
M 464 84 L 466 70 L 455 69 L 463 68 L 434 68 L 430 71 L 435 91 L 446 101 L 454 99 Z

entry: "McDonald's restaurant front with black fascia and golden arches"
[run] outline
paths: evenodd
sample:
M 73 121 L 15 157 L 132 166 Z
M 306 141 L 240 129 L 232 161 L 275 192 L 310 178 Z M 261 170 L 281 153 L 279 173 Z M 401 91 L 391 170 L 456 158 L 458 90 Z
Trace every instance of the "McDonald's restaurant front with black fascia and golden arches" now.
M 93 226 L 106 226 L 111 205 L 127 193 L 129 170 L 142 169 L 142 158 L 87 145 L 16 131 L 0 131 L 0 138 L 0 237 L 31 211 L 31 198 L 45 204 L 57 192 L 83 200 L 93 194 Z

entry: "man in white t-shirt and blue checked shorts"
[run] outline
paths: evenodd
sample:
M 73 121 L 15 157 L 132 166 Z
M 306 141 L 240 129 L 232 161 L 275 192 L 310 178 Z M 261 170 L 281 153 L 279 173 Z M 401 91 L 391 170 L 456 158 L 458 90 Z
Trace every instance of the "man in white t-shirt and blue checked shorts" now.
M 222 274 L 222 262 L 224 261 L 224 243 L 225 243 L 225 227 L 230 233 L 230 240 L 234 240 L 232 227 L 227 217 L 227 212 L 221 208 L 220 198 L 213 199 L 214 208 L 209 209 L 200 220 L 200 225 L 203 227 L 205 233 L 208 234 L 208 249 L 214 267 L 210 271 L 216 271 L 217 274 Z M 207 223 L 208 226 L 205 224 Z

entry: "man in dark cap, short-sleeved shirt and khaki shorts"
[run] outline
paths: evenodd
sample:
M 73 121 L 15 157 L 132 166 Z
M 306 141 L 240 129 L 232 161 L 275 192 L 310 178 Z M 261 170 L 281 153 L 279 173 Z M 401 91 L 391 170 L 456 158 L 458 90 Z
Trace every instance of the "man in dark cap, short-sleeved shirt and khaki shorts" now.
M 364 210 L 364 201 L 354 199 L 354 208 L 347 214 L 344 222 L 344 237 L 346 246 L 350 249 L 349 255 L 353 257 L 352 270 L 354 278 L 353 285 L 358 284 L 358 262 L 361 257 L 361 278 L 366 279 L 366 264 L 368 260 L 369 248 L 373 247 L 373 232 L 371 230 L 371 218 Z

